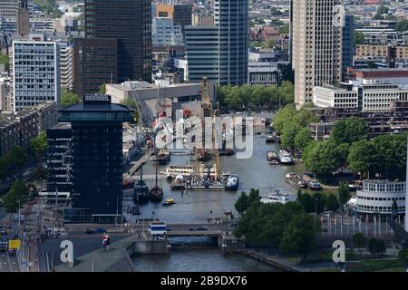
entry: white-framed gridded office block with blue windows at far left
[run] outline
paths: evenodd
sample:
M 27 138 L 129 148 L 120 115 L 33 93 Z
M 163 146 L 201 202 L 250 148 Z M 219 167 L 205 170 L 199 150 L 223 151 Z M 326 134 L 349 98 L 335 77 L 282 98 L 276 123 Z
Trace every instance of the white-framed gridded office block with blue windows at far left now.
M 14 41 L 12 47 L 13 111 L 41 102 L 60 103 L 59 43 L 44 41 L 44 35 L 35 35 L 31 40 Z

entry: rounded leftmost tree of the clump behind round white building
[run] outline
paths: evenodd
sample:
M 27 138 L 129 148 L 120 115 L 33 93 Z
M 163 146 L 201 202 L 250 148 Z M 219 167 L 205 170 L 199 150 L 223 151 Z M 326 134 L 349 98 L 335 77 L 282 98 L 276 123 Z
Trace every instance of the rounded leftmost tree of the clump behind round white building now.
M 328 175 L 345 166 L 348 155 L 348 145 L 338 145 L 334 140 L 312 142 L 303 153 L 306 169 L 316 175 Z

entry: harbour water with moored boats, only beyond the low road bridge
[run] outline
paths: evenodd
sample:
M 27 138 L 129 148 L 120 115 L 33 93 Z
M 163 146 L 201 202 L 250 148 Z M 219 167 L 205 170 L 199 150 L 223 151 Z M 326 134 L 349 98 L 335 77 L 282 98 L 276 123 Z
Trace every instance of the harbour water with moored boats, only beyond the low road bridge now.
M 168 223 L 202 222 L 207 218 L 219 218 L 225 210 L 234 209 L 234 204 L 241 191 L 249 192 L 250 189 L 259 189 L 260 195 L 267 198 L 272 189 L 287 189 L 296 194 L 296 189 L 291 187 L 285 175 L 288 172 L 303 173 L 304 166 L 296 164 L 292 166 L 269 165 L 267 163 L 267 151 L 278 150 L 277 144 L 267 144 L 267 135 L 258 135 L 266 131 L 263 126 L 254 129 L 254 150 L 251 158 L 238 160 L 236 155 L 220 157 L 223 172 L 238 174 L 239 188 L 237 192 L 231 191 L 189 191 L 181 194 L 181 191 L 170 190 L 170 183 L 165 178 L 159 179 L 159 184 L 164 191 L 165 198 L 174 198 L 176 204 L 171 207 L 162 207 L 161 203 L 149 203 L 140 208 L 139 218 L 160 218 Z M 186 165 L 190 156 L 171 156 L 170 164 Z M 167 166 L 160 166 L 159 171 L 164 171 Z M 143 166 L 143 175 L 146 175 L 146 183 L 149 187 L 154 184 L 154 163 Z M 138 173 L 137 173 L 138 174 Z M 126 204 L 126 202 L 125 202 Z M 136 220 L 132 217 L 132 221 Z

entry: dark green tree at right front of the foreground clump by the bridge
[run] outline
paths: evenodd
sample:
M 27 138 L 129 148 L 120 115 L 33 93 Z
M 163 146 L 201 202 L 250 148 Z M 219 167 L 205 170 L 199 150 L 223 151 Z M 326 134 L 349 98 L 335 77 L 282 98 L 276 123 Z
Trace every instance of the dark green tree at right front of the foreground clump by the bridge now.
M 279 249 L 285 254 L 306 256 L 316 247 L 316 237 L 320 231 L 317 218 L 306 213 L 298 214 L 284 230 Z

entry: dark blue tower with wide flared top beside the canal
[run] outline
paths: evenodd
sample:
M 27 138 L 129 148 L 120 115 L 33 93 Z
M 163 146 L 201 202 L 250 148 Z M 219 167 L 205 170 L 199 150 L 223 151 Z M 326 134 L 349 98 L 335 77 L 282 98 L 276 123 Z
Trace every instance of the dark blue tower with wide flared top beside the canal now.
M 64 223 L 121 222 L 122 122 L 131 109 L 109 95 L 85 95 L 83 103 L 63 108 L 58 121 L 72 126 L 72 208 Z

